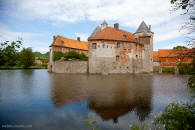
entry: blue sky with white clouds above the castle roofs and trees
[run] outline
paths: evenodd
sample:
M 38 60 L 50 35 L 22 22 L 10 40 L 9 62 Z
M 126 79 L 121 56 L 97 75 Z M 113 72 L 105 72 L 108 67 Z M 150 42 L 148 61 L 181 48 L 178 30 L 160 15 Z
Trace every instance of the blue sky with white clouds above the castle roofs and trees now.
M 22 38 L 23 47 L 45 53 L 54 35 L 87 38 L 106 20 L 134 33 L 144 20 L 154 32 L 154 50 L 185 45 L 186 18 L 170 0 L 0 0 L 0 43 Z

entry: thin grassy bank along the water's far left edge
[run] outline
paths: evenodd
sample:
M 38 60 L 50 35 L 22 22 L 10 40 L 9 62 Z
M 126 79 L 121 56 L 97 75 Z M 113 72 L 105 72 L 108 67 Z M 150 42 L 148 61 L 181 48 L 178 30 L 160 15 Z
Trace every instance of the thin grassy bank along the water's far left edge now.
M 22 67 L 22 66 L 0 66 L 0 69 L 47 69 L 46 66 L 30 66 L 30 67 Z

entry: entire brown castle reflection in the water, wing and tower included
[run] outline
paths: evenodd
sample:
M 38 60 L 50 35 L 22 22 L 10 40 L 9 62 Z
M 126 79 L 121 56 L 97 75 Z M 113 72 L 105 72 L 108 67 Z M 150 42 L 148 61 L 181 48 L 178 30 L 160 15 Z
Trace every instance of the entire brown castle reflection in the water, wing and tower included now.
M 135 111 L 139 120 L 143 121 L 151 111 L 152 76 L 86 75 L 80 78 L 76 75 L 71 75 L 71 78 L 55 75 L 51 78 L 55 106 L 87 100 L 90 110 L 103 120 L 112 119 L 115 123 L 118 117 L 131 111 Z M 135 82 L 135 79 L 142 82 Z

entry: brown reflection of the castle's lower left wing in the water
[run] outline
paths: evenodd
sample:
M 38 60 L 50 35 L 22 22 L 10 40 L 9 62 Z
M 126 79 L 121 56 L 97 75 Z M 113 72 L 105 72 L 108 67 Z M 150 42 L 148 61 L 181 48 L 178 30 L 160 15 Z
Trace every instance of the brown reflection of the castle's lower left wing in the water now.
M 53 74 L 51 76 L 53 104 L 61 107 L 67 103 L 86 100 L 86 81 L 86 76 Z

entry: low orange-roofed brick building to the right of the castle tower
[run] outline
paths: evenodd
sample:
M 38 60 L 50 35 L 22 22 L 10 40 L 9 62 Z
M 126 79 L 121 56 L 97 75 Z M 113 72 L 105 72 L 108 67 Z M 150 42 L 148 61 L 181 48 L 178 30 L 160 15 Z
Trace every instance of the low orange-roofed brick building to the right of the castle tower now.
M 195 48 L 193 49 L 159 49 L 153 53 L 154 71 L 162 68 L 175 68 L 179 63 L 195 62 Z

